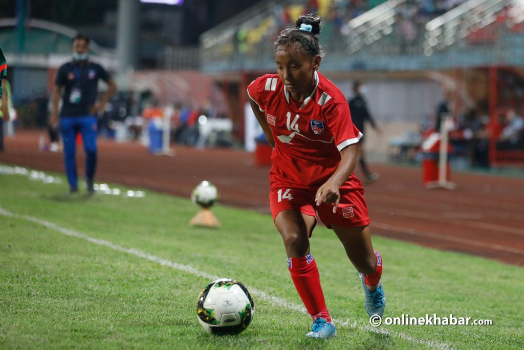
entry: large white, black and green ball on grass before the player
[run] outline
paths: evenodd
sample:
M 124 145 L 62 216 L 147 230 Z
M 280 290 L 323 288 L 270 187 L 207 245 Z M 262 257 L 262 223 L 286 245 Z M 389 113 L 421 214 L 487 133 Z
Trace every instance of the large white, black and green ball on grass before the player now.
M 238 281 L 223 278 L 208 284 L 196 302 L 198 320 L 215 335 L 244 332 L 255 312 L 251 294 Z

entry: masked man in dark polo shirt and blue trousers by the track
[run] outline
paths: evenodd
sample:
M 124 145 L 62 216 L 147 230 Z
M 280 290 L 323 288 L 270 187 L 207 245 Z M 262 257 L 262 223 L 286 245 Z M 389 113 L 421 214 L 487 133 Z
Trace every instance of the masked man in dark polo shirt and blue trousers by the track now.
M 85 162 L 85 183 L 88 193 L 94 193 L 93 179 L 96 168 L 96 116 L 116 90 L 114 80 L 97 63 L 89 60 L 89 38 L 78 34 L 73 39 L 73 59 L 58 69 L 54 83 L 51 108 L 51 126 L 58 126 L 58 102 L 60 131 L 64 146 L 65 173 L 70 193 L 78 192 L 77 163 L 75 160 L 77 133 L 82 134 Z M 107 82 L 108 89 L 100 103 L 96 103 L 99 79 Z

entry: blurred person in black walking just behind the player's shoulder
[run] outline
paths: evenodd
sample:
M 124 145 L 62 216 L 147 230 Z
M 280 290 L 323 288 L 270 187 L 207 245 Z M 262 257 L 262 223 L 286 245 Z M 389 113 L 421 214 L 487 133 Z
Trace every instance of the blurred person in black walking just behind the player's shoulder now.
M 353 84 L 354 97 L 347 102 L 350 105 L 351 120 L 353 121 L 353 124 L 355 124 L 357 129 L 360 132 L 362 132 L 362 134 L 364 134 L 364 136 L 366 135 L 366 133 L 364 132 L 364 126 L 366 122 L 369 122 L 369 124 L 373 126 L 373 129 L 380 134 L 380 129 L 378 128 L 377 124 L 375 123 L 372 116 L 369 114 L 367 110 L 366 100 L 364 100 L 364 97 L 362 96 L 361 89 L 362 82 L 356 81 Z M 365 179 L 368 183 L 371 183 L 377 181 L 379 176 L 377 173 L 370 172 L 366 164 L 364 151 L 364 136 L 362 136 L 362 139 L 356 143 L 357 153 L 359 157 L 359 163 L 361 165 L 362 171 L 364 172 Z

